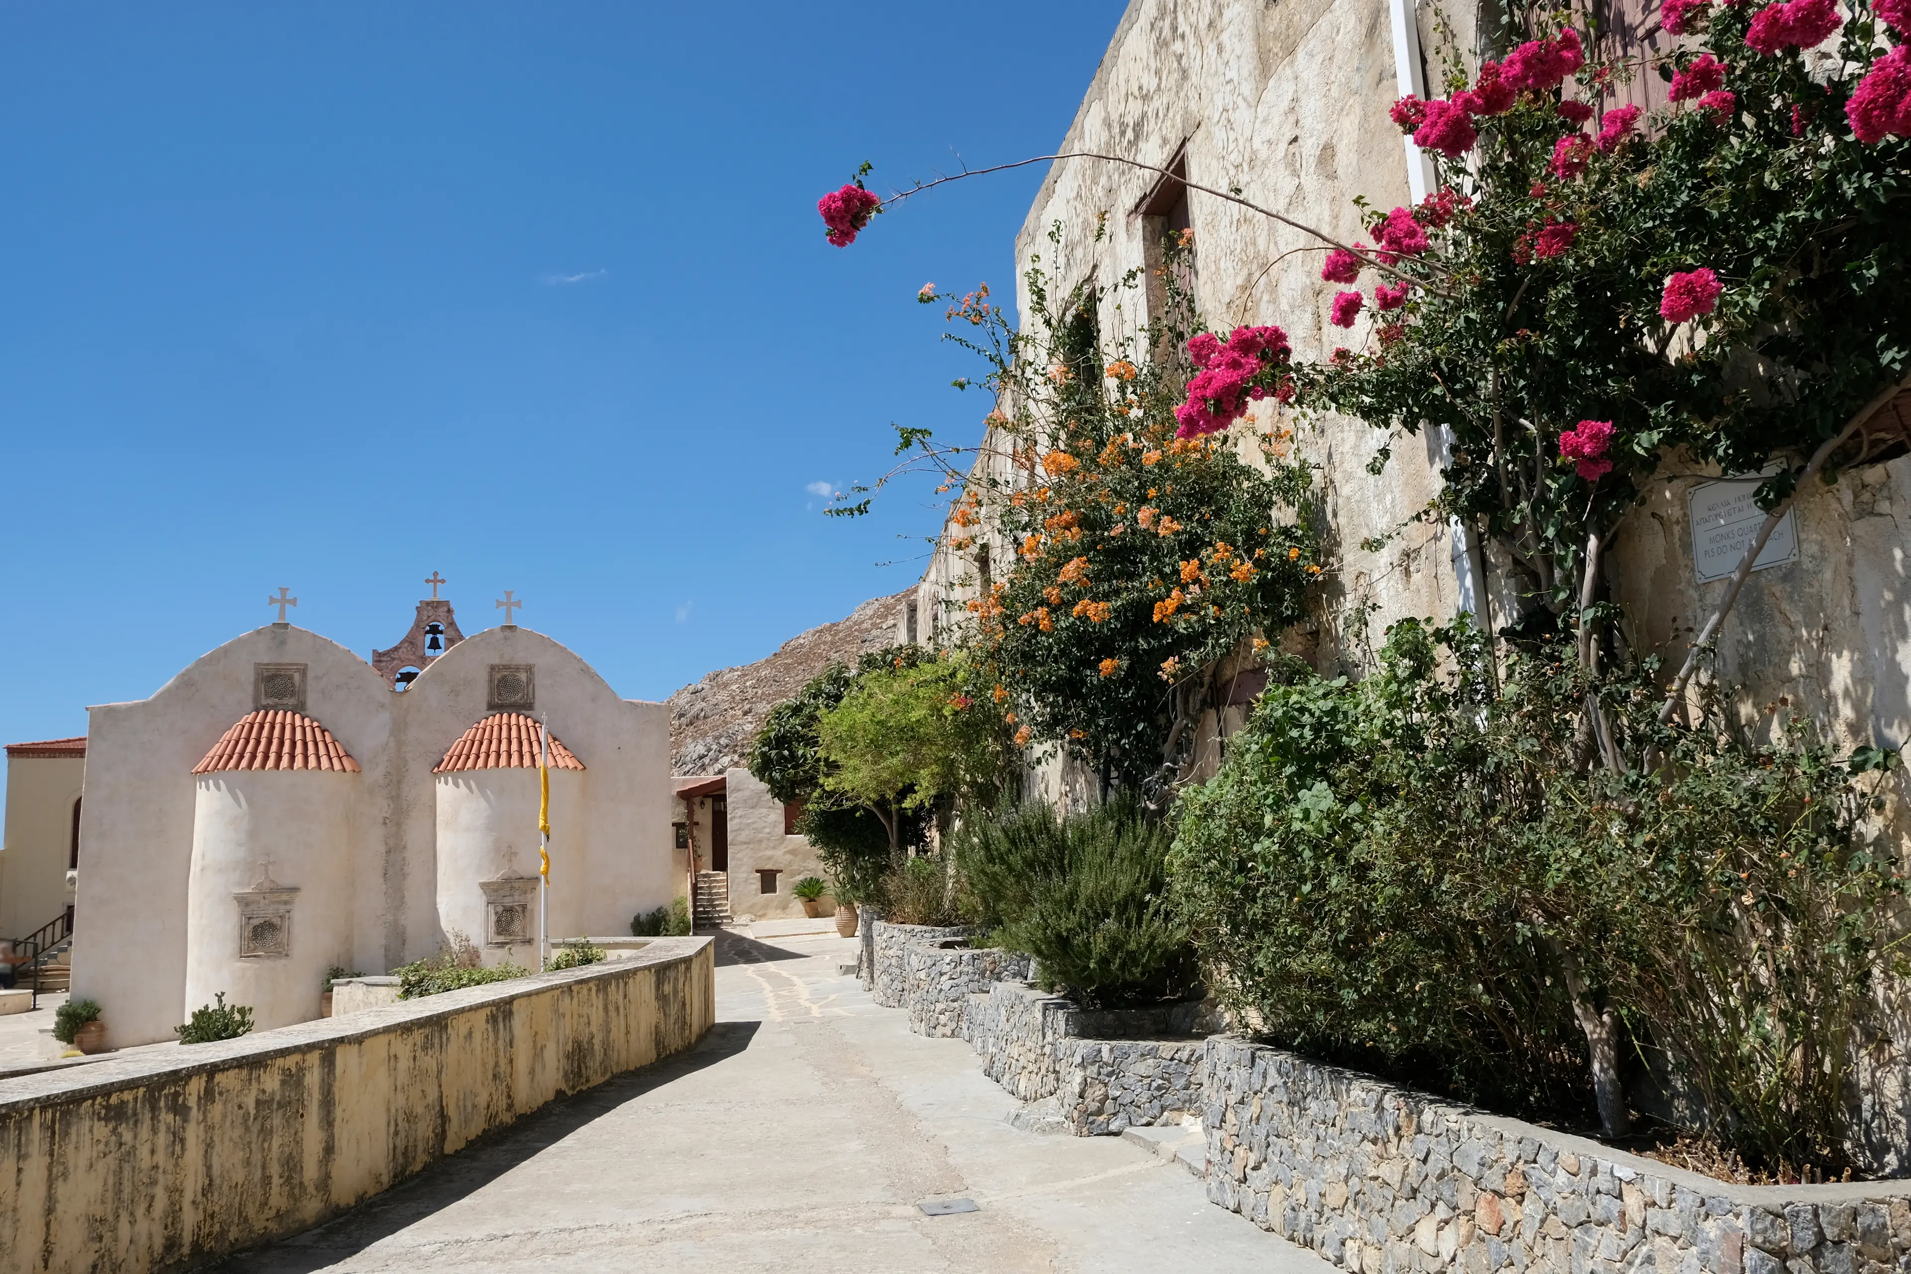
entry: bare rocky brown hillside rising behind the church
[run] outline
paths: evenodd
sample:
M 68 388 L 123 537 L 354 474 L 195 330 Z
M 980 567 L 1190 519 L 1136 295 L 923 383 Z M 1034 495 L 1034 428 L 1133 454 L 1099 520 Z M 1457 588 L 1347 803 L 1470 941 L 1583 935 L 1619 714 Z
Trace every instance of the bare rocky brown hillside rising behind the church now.
M 852 665 L 860 653 L 896 642 L 896 615 L 912 592 L 864 602 L 847 619 L 789 638 L 768 659 L 717 669 L 665 699 L 671 772 L 722 774 L 741 766 L 770 709 L 803 690 L 831 659 Z

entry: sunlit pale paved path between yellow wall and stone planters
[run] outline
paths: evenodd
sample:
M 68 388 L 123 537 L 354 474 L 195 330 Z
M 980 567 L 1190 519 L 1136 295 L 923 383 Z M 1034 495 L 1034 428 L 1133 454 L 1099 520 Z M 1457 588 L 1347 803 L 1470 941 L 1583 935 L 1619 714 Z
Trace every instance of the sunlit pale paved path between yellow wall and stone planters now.
M 1313 1253 L 1112 1136 L 1019 1133 L 959 1039 L 910 1035 L 854 940 L 719 938 L 690 1054 L 518 1121 L 229 1272 L 1257 1270 Z M 963 1196 L 980 1209 L 927 1217 Z

